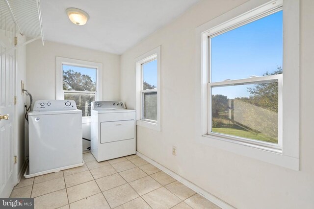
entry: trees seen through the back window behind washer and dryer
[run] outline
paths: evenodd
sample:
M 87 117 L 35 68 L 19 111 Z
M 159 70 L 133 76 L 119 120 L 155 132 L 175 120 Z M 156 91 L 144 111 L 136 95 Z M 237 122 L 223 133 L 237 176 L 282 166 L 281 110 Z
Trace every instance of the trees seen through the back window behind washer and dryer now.
M 96 83 L 91 76 L 71 69 L 63 71 L 63 90 L 64 99 L 74 100 L 77 108 L 82 111 L 82 116 L 90 116 L 91 102 L 95 101 L 95 93 L 91 92 L 96 91 Z

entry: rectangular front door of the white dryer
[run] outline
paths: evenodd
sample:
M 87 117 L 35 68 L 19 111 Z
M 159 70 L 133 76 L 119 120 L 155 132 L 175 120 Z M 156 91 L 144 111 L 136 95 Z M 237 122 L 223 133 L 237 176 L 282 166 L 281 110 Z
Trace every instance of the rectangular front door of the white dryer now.
M 100 123 L 100 143 L 134 139 L 134 120 Z

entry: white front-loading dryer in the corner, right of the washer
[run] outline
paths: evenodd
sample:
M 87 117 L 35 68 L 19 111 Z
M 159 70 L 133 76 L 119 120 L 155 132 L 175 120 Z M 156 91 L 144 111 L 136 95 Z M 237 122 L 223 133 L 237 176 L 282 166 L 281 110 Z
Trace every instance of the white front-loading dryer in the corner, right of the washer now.
M 136 112 L 121 101 L 94 101 L 91 152 L 98 162 L 136 153 Z

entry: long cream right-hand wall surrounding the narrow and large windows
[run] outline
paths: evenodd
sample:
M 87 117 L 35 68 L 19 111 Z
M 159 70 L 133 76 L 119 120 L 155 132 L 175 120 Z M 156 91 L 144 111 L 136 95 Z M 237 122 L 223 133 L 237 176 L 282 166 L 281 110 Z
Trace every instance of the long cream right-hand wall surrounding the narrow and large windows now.
M 121 56 L 121 100 L 135 108 L 135 58 L 161 46 L 161 132 L 137 126 L 137 151 L 239 209 L 313 209 L 313 0 L 301 0 L 300 171 L 197 143 L 195 28 L 246 1 L 202 0 Z

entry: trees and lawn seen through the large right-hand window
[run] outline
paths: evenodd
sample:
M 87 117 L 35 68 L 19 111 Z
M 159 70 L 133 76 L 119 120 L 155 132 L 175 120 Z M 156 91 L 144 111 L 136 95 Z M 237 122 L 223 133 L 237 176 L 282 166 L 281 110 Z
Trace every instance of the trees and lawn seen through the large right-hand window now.
M 281 74 L 279 67 L 263 76 Z M 212 95 L 212 131 L 244 138 L 277 142 L 278 83 L 260 83 L 247 88 L 248 97 L 228 99 Z

